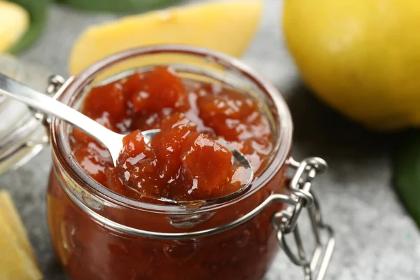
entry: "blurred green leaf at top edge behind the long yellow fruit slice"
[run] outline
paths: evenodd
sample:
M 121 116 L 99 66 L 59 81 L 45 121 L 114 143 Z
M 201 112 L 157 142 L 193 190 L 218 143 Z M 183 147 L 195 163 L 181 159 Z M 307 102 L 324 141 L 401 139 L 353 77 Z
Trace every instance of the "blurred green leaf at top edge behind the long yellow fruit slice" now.
M 56 0 L 75 8 L 113 13 L 137 13 L 169 6 L 179 0 Z

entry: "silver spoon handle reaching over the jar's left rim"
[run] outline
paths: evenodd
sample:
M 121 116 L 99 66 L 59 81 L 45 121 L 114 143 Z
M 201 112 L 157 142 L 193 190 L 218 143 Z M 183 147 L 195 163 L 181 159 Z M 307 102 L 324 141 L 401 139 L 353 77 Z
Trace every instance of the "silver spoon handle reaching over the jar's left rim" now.
M 119 135 L 99 125 L 99 123 L 70 106 L 48 97 L 27 85 L 23 85 L 2 73 L 0 73 L 0 94 L 5 94 L 43 113 L 64 120 L 66 123 L 74 125 L 79 130 L 99 140 L 105 146 L 108 146 L 109 143 L 104 143 L 104 141 L 111 141 L 111 139 L 116 139 L 116 136 Z

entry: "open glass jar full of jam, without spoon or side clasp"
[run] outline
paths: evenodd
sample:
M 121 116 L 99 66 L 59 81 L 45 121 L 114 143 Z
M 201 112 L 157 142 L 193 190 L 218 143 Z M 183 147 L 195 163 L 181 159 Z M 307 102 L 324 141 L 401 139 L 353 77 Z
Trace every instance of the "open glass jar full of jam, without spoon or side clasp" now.
M 260 206 L 286 191 L 292 125 L 275 87 L 255 75 L 224 55 L 161 46 L 108 57 L 62 87 L 61 102 L 128 134 L 113 167 L 97 141 L 51 124 L 48 223 L 71 279 L 263 278 L 279 248 L 272 218 L 285 204 Z M 139 130 L 156 128 L 144 145 Z M 246 192 L 186 205 L 148 198 L 207 200 L 240 188 L 244 170 L 218 139 L 251 163 Z

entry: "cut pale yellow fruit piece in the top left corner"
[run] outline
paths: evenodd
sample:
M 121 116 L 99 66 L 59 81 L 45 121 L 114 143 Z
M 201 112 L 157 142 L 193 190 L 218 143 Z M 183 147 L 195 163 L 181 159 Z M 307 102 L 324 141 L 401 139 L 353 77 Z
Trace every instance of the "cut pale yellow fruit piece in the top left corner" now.
M 29 13 L 16 3 L 0 1 L 0 53 L 8 50 L 29 28 Z

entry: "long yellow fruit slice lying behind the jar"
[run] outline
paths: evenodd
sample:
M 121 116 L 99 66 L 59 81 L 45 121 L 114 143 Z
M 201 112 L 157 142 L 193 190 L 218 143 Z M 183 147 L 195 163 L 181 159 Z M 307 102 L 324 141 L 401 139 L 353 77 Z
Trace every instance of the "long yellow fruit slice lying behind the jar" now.
M 219 1 L 129 16 L 88 28 L 73 45 L 69 71 L 144 45 L 183 44 L 239 56 L 258 27 L 260 1 Z

